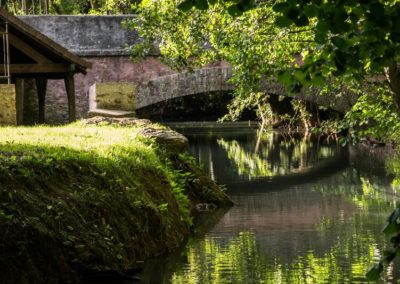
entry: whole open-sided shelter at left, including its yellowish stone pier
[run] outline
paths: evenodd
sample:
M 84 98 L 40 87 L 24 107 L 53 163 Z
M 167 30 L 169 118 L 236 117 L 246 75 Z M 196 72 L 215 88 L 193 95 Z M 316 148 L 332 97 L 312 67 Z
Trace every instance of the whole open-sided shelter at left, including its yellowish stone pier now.
M 0 123 L 44 122 L 46 94 L 52 95 L 47 92 L 49 80 L 62 80 L 67 106 L 64 118 L 75 120 L 74 75 L 86 74 L 91 63 L 2 9 L 0 41 Z M 33 116 L 29 110 L 32 96 L 37 104 Z

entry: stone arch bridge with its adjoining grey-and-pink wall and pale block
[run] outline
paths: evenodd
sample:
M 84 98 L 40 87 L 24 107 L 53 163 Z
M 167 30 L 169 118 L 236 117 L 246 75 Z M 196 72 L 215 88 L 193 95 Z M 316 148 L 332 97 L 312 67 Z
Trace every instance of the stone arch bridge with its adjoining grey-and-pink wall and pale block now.
M 85 76 L 75 76 L 78 118 L 86 117 L 88 111 L 90 115 L 94 109 L 134 113 L 135 109 L 173 98 L 233 90 L 233 86 L 227 83 L 231 77 L 231 70 L 227 67 L 204 68 L 193 73 L 175 73 L 159 60 L 156 50 L 150 54 L 151 56 L 139 62 L 132 62 L 126 44 L 135 45 L 140 38 L 136 32 L 127 31 L 121 25 L 121 22 L 132 17 L 132 15 L 20 17 L 29 26 L 92 63 L 92 68 Z M 109 87 L 101 91 L 102 84 L 108 84 Z M 121 85 L 120 88 L 118 84 Z M 64 82 L 57 80 L 48 84 L 48 96 L 45 101 L 48 110 L 45 115 L 46 122 L 59 123 L 67 119 L 68 104 L 63 85 Z M 276 83 L 264 85 L 268 93 L 288 95 L 285 88 Z M 109 93 L 108 91 L 112 89 L 114 90 Z M 312 95 L 296 94 L 294 97 L 340 112 L 348 110 L 354 102 L 353 99 L 345 97 L 319 96 L 317 92 Z M 32 111 L 32 116 L 36 112 L 35 100 L 35 96 L 28 96 L 26 100 L 29 103 L 27 109 Z

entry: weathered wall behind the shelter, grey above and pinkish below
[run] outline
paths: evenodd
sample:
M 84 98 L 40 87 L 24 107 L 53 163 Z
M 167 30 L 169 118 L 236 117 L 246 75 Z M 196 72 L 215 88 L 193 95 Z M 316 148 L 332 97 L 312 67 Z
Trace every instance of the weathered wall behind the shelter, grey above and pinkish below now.
M 71 52 L 92 62 L 87 74 L 75 75 L 76 116 L 87 117 L 89 87 L 103 82 L 139 83 L 173 71 L 157 57 L 134 63 L 129 58 L 127 44 L 138 38 L 126 31 L 121 22 L 132 16 L 20 16 L 19 18 Z M 157 52 L 154 52 L 157 54 Z M 34 90 L 34 87 L 32 87 Z M 32 92 L 31 90 L 31 92 Z M 35 98 L 30 98 L 31 102 Z M 31 103 L 29 107 L 33 107 Z M 35 114 L 36 115 L 36 114 Z M 33 118 L 35 120 L 36 117 Z M 32 118 L 26 118 L 31 121 Z M 68 121 L 68 102 L 63 80 L 48 82 L 46 96 L 47 123 Z

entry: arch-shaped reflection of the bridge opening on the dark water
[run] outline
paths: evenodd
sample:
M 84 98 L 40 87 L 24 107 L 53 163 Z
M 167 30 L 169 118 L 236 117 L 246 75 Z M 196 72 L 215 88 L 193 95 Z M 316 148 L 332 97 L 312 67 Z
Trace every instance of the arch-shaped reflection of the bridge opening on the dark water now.
M 324 166 L 342 168 L 348 163 L 347 151 L 323 139 L 277 132 L 258 135 L 249 129 L 234 134 L 215 130 L 211 135 L 186 134 L 191 138 L 190 152 L 220 183 L 307 176 Z

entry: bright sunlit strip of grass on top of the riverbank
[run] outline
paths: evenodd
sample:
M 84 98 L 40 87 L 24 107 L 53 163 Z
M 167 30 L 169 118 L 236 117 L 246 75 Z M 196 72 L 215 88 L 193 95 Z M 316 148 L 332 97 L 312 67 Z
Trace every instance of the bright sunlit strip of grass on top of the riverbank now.
M 139 127 L 89 126 L 79 122 L 62 127 L 3 127 L 0 145 L 2 151 L 24 156 L 39 149 L 52 156 L 65 156 L 71 150 L 80 151 L 81 156 L 96 155 L 114 161 L 130 158 L 154 164 L 157 160 L 154 147 L 141 139 L 139 131 Z

